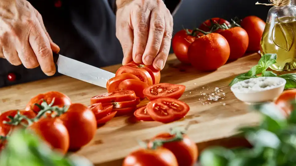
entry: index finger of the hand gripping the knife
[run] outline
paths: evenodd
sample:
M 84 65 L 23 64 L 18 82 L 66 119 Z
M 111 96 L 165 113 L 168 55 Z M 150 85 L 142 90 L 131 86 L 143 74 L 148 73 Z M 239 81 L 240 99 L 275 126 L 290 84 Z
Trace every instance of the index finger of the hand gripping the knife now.
M 55 74 L 55 64 L 53 62 L 50 42 L 39 22 L 32 26 L 29 34 L 30 45 L 37 57 L 40 67 L 48 76 Z

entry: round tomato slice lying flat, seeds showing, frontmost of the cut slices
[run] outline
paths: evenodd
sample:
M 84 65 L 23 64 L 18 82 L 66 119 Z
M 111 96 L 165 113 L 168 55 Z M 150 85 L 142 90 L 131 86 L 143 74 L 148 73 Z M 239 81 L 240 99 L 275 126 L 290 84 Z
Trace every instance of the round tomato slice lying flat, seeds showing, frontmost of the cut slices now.
M 189 111 L 189 106 L 183 101 L 163 97 L 150 101 L 147 112 L 155 121 L 169 123 L 183 118 Z

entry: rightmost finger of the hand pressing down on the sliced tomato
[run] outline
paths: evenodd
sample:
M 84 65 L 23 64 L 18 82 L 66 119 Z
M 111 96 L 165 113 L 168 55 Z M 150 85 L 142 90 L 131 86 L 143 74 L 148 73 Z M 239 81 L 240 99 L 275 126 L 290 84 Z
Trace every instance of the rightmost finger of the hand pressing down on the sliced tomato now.
M 165 18 L 165 31 L 162 38 L 162 43 L 160 46 L 160 50 L 153 61 L 153 67 L 158 70 L 162 70 L 171 48 L 171 39 L 172 39 L 172 31 L 173 31 L 173 20 L 171 17 L 167 16 Z

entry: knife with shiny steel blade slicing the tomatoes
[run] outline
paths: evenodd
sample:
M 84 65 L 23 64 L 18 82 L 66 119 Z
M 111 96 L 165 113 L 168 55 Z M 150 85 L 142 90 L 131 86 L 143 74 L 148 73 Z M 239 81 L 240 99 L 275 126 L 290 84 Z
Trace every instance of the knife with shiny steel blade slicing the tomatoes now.
M 57 53 L 53 53 L 53 59 L 58 66 L 59 73 L 103 88 L 106 88 L 106 83 L 110 78 L 115 77 L 114 73 Z

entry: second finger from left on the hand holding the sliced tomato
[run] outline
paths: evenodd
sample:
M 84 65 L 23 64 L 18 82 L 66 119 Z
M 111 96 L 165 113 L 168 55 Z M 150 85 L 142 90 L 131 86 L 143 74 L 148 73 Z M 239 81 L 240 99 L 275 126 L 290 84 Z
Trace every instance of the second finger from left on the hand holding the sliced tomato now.
M 134 19 L 132 19 L 134 26 L 133 60 L 136 63 L 142 63 L 149 34 L 150 9 L 146 8 L 146 10 L 134 13 Z

